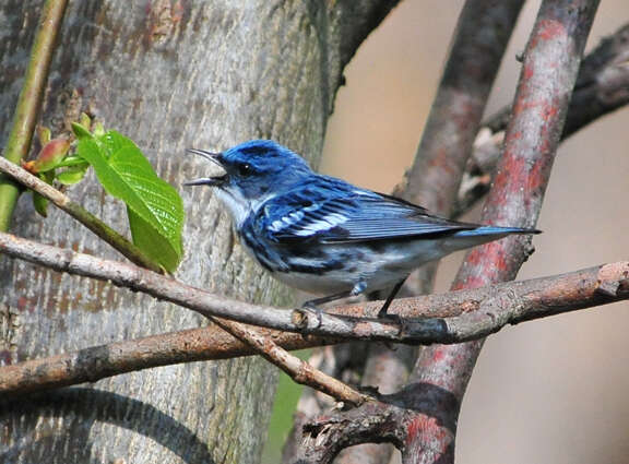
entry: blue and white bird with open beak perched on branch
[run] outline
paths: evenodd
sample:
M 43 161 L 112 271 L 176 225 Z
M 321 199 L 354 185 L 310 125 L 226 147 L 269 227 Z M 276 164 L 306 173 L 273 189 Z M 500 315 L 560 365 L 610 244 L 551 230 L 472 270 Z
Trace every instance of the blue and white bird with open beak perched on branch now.
M 273 277 L 312 294 L 319 305 L 393 287 L 446 254 L 511 234 L 538 234 L 437 217 L 424 207 L 317 174 L 296 153 L 253 140 L 223 153 L 191 148 L 222 174 L 186 182 L 215 189 L 245 249 Z

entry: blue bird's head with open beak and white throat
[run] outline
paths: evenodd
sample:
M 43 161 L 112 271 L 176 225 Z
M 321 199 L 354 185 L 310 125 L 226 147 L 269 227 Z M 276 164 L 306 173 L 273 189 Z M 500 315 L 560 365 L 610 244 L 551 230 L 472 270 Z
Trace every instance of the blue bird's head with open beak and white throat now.
M 271 140 L 252 140 L 223 153 L 188 152 L 219 166 L 221 172 L 185 185 L 216 187 L 237 224 L 259 202 L 312 175 L 304 158 Z

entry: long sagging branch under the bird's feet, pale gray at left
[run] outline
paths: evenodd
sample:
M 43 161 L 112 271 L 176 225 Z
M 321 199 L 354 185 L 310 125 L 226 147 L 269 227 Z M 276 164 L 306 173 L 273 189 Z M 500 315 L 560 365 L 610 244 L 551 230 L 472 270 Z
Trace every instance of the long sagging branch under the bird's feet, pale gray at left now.
M 626 279 L 626 263 L 616 263 L 615 273 L 606 277 L 615 285 L 617 294 L 598 293 L 601 282 L 582 278 L 572 287 L 577 296 L 562 296 L 562 304 L 541 301 L 529 294 L 527 286 L 539 288 L 566 276 L 522 281 L 492 290 L 451 292 L 417 298 L 401 298 L 391 305 L 391 313 L 401 320 L 376 319 L 381 301 L 352 305 L 334 312 L 314 314 L 308 310 L 280 309 L 251 305 L 214 295 L 173 278 L 134 266 L 133 264 L 103 260 L 72 250 L 19 238 L 0 233 L 0 252 L 73 275 L 109 281 L 119 287 L 142 292 L 159 300 L 170 301 L 189 308 L 205 317 L 218 317 L 246 324 L 259 325 L 301 334 L 331 336 L 345 340 L 387 341 L 411 344 L 459 343 L 496 332 L 507 323 L 518 323 L 533 318 L 543 318 L 558 312 L 620 301 L 627 298 L 620 282 Z M 624 267 L 625 266 L 625 267 Z M 593 267 L 597 270 L 598 267 Z M 605 267 L 609 272 L 608 266 Z M 592 275 L 592 270 L 586 270 Z M 570 288 L 572 288 L 570 287 Z M 558 306 L 559 305 L 559 306 Z M 452 309 L 454 308 L 454 309 Z M 454 311 L 454 312 L 452 312 Z M 456 313 L 456 311 L 459 311 Z

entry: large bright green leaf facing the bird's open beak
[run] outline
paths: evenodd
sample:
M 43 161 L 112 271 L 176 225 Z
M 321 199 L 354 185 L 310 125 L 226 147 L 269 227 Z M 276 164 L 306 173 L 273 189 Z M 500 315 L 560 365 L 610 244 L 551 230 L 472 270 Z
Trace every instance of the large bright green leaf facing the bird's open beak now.
M 112 197 L 128 207 L 133 242 L 169 272 L 183 254 L 183 203 L 135 144 L 116 131 L 80 139 L 76 154 L 88 162 Z

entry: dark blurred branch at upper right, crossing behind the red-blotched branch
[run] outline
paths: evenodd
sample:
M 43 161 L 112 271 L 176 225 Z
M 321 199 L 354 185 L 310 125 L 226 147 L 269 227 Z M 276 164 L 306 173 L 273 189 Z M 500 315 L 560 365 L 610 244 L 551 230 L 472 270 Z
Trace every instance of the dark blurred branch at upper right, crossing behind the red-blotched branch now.
M 626 24 L 583 59 L 561 140 L 628 103 L 629 24 Z M 511 107 L 502 108 L 478 132 L 453 207 L 454 217 L 471 210 L 489 191 L 510 115 Z

